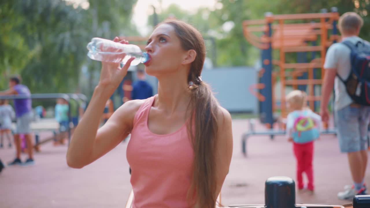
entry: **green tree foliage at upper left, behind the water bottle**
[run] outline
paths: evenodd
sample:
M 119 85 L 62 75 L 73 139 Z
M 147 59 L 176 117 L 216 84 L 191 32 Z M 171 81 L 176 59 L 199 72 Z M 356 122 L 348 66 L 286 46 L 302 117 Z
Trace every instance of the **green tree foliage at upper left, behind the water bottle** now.
M 83 64 L 100 70 L 86 56 L 92 37 L 136 33 L 129 21 L 136 1 L 89 0 L 88 9 L 68 0 L 1 1 L 0 89 L 20 74 L 33 93 L 74 92 Z

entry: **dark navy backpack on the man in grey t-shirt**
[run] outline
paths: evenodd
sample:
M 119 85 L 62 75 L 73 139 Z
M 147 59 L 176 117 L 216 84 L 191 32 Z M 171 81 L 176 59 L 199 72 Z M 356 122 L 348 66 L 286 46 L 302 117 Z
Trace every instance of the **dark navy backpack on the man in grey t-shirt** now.
M 348 95 L 354 103 L 370 106 L 370 45 L 363 41 L 353 44 L 351 41 L 343 41 L 351 50 L 351 72 L 346 80 L 340 76 L 346 86 Z

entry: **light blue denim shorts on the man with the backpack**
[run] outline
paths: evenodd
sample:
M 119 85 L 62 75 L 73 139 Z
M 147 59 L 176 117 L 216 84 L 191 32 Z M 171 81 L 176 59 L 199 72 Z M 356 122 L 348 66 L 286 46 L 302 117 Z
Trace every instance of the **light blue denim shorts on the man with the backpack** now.
M 341 152 L 366 150 L 370 107 L 350 105 L 335 112 L 335 122 Z

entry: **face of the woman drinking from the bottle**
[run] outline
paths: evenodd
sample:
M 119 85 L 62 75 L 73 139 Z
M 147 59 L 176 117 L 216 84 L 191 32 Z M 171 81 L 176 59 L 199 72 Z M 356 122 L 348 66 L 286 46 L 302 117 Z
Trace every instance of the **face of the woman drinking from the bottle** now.
M 151 76 L 178 70 L 186 57 L 180 39 L 169 24 L 161 24 L 155 28 L 145 50 L 151 56 L 149 63 L 145 64 L 145 71 Z

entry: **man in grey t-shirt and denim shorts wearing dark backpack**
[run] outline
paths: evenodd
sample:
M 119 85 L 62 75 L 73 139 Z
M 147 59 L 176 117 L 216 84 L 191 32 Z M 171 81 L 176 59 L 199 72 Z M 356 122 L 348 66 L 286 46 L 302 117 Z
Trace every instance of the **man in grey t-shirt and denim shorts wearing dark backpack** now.
M 344 13 L 338 26 L 342 42 L 327 51 L 322 84 L 321 116 L 329 120 L 328 103 L 335 92 L 334 120 L 340 151 L 347 153 L 353 185 L 338 193 L 339 199 L 366 194 L 367 132 L 370 118 L 370 44 L 359 36 L 363 19 L 354 12 Z

